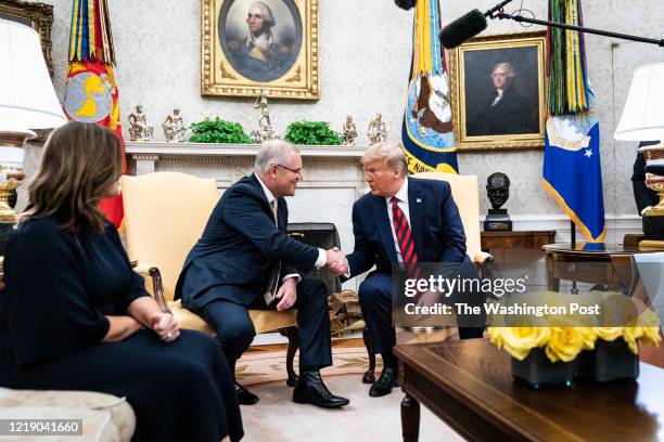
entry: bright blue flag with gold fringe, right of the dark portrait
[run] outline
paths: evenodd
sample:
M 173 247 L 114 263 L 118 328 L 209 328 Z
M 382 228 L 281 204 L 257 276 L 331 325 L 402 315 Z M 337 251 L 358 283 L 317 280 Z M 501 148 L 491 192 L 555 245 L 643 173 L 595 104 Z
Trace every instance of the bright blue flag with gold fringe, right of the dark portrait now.
M 583 26 L 580 0 L 549 0 L 549 18 Z M 599 121 L 579 32 L 548 30 L 549 96 L 542 185 L 586 240 L 606 235 Z

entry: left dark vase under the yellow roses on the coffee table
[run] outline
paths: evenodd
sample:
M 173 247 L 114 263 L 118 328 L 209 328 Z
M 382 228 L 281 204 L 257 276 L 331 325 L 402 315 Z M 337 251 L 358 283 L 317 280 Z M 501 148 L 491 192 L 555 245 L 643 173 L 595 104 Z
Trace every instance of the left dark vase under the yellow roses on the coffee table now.
M 574 364 L 551 362 L 544 349 L 536 348 L 523 361 L 512 358 L 512 376 L 527 382 L 533 388 L 572 385 Z

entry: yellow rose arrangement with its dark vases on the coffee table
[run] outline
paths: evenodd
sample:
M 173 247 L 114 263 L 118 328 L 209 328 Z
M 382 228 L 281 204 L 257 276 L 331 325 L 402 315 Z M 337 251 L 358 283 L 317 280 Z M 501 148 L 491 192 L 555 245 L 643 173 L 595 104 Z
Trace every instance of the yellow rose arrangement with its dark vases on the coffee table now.
M 639 342 L 659 346 L 660 320 L 641 301 L 621 294 L 528 294 L 539 306 L 601 304 L 593 315 L 570 310 L 541 315 L 493 315 L 493 343 L 512 356 L 512 376 L 531 387 L 571 386 L 573 378 L 605 382 L 639 376 Z M 601 311 L 601 313 L 599 313 Z M 620 325 L 620 326 L 613 326 Z

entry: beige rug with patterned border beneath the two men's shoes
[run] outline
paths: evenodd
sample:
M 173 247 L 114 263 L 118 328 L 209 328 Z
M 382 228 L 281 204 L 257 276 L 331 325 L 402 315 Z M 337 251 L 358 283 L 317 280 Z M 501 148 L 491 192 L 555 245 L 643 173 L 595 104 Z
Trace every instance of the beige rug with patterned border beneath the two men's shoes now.
M 362 348 L 334 348 L 333 366 L 322 370 L 330 390 L 350 400 L 341 410 L 322 410 L 293 403 L 285 385 L 285 352 L 245 353 L 238 362 L 240 384 L 260 396 L 256 405 L 242 406 L 248 442 L 350 442 L 401 441 L 400 403 L 404 393 L 394 389 L 383 398 L 370 398 L 361 375 L 368 367 Z M 297 362 L 297 359 L 295 360 Z M 380 369 L 380 358 L 378 369 Z M 376 374 L 378 377 L 378 374 Z M 462 441 L 452 429 L 420 407 L 420 441 Z

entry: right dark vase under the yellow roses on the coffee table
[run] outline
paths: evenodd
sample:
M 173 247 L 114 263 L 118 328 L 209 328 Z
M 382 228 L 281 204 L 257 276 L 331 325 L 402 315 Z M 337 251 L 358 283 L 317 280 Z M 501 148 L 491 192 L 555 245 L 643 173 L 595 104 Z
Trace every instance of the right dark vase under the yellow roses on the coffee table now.
M 598 339 L 595 350 L 583 351 L 576 359 L 575 376 L 593 382 L 639 377 L 639 355 L 634 354 L 623 338 Z

